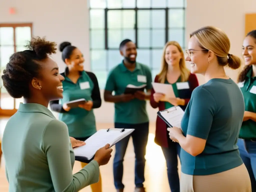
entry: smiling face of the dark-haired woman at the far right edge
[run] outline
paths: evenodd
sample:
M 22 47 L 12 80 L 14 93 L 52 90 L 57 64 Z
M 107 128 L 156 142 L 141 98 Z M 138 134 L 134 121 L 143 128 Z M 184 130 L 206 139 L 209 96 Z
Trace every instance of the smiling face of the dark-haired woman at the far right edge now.
M 251 36 L 247 36 L 243 41 L 243 57 L 245 65 L 254 65 L 256 64 L 256 39 Z

